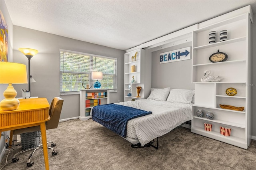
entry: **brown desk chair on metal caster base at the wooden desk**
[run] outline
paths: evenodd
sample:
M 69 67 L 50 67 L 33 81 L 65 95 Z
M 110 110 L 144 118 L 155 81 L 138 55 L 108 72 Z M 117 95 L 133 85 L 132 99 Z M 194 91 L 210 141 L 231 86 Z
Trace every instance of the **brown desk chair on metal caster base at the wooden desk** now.
M 50 109 L 49 109 L 50 120 L 46 122 L 46 130 L 58 127 L 62 105 L 63 105 L 63 99 L 61 99 L 60 97 L 54 97 L 54 99 L 52 100 Z M 35 132 L 35 131 L 40 131 L 40 126 L 11 130 L 9 144 L 10 145 L 12 144 L 13 134 L 22 134 L 22 133 Z M 47 143 L 52 143 L 51 144 L 52 147 L 56 146 L 56 144 L 53 143 L 52 141 L 47 142 Z M 52 147 L 48 147 L 48 149 L 52 150 L 52 155 L 58 154 L 58 152 L 56 152 Z M 19 160 L 19 158 L 16 158 L 16 155 L 23 153 L 23 152 L 27 152 L 29 150 L 33 150 L 33 152 L 30 154 L 28 161 L 27 161 L 27 166 L 28 167 L 32 166 L 34 164 L 34 162 L 31 162 L 31 158 L 38 148 L 42 148 L 42 144 L 39 144 L 35 148 L 29 148 L 29 149 L 22 150 L 22 151 L 16 153 L 12 158 L 12 162 L 17 162 Z

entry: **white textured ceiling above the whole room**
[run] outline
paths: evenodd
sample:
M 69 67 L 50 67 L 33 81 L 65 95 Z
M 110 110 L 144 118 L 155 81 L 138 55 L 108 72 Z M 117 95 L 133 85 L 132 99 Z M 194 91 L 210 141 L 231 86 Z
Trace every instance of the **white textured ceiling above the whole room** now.
M 13 25 L 126 50 L 256 0 L 5 0 Z

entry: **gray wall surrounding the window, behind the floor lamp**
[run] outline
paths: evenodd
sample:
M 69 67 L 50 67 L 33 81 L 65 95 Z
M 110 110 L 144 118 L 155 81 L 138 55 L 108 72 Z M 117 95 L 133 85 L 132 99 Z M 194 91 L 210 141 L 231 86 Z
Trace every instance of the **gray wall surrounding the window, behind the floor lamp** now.
M 31 96 L 46 97 L 50 103 L 56 96 L 64 99 L 60 119 L 79 116 L 79 95 L 61 95 L 59 93 L 59 49 L 67 49 L 83 53 L 102 55 L 117 58 L 117 89 L 118 92 L 110 93 L 110 103 L 124 100 L 124 53 L 126 51 L 82 42 L 46 32 L 31 30 L 14 26 L 13 29 L 13 61 L 26 64 L 27 57 L 18 51 L 20 47 L 37 49 L 39 52 L 30 61 L 30 73 L 36 80 L 31 83 Z M 21 89 L 28 89 L 28 84 L 14 85 L 17 97 L 22 97 Z

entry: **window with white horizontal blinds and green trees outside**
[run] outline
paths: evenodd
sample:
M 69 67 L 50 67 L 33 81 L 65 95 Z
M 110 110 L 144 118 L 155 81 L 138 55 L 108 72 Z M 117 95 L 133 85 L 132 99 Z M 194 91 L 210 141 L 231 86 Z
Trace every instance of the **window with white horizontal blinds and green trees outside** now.
M 93 85 L 92 71 L 103 73 L 103 79 L 99 80 L 101 89 L 116 91 L 116 64 L 116 58 L 60 49 L 60 93 L 76 92 L 86 84 Z

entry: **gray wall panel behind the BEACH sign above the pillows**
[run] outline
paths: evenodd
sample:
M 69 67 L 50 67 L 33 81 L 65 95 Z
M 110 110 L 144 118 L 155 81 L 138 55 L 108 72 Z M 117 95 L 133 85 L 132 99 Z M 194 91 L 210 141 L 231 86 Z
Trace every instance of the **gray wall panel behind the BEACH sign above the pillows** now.
M 192 43 L 188 42 L 152 52 L 153 88 L 194 89 L 194 84 L 191 83 L 192 59 L 163 64 L 159 62 L 160 53 L 191 46 Z

